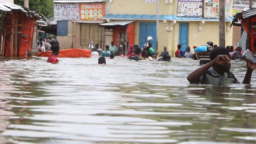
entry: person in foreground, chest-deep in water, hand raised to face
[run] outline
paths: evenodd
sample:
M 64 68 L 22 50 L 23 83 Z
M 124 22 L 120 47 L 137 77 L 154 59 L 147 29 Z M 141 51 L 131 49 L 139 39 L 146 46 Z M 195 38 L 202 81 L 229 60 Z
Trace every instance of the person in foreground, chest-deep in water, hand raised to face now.
M 187 80 L 194 84 L 212 84 L 223 85 L 239 83 L 232 72 L 230 72 L 230 54 L 224 47 L 215 47 L 210 53 L 210 62 L 191 72 Z M 252 63 L 248 58 L 247 71 L 243 80 L 244 84 L 250 84 L 252 72 L 256 64 Z

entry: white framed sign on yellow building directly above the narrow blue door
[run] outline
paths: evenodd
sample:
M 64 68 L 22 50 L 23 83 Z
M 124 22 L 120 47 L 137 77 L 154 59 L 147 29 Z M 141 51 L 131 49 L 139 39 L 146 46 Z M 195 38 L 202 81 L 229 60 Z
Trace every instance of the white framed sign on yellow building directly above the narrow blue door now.
M 179 0 L 177 16 L 202 17 L 203 0 Z

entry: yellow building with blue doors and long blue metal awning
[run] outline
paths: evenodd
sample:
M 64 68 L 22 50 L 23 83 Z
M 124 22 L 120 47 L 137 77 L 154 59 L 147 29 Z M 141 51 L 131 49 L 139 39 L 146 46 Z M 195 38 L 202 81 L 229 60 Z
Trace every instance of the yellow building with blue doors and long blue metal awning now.
M 185 2 L 184 2 L 185 1 Z M 159 37 L 158 46 L 156 46 L 156 0 L 109 0 L 107 2 L 109 14 L 105 19 L 110 23 L 109 31 L 106 35 L 106 44 L 115 41 L 118 47 L 121 40 L 114 38 L 114 24 L 134 23 L 134 43 L 142 47 L 146 43 L 146 37 L 152 36 L 153 47 L 158 52 L 167 46 L 174 55 L 178 44 L 182 44 L 182 50 L 186 46 L 206 44 L 207 41 L 213 41 L 219 45 L 219 22 L 218 22 L 218 3 L 208 2 L 208 0 L 160 0 L 159 2 Z M 232 45 L 232 1 L 227 0 L 229 10 L 226 16 L 226 45 Z M 217 10 L 217 11 L 216 11 Z M 187 15 L 186 15 L 187 14 Z M 201 15 L 201 16 L 200 16 Z M 101 24 L 105 28 L 108 23 Z M 111 29 L 112 28 L 112 29 Z M 120 32 L 121 33 L 121 32 Z M 128 35 L 128 34 L 127 34 Z M 118 36 L 119 37 L 119 36 Z M 128 38 L 129 39 L 129 38 Z M 127 41 L 127 40 L 126 40 Z M 129 40 L 128 40 L 129 41 Z

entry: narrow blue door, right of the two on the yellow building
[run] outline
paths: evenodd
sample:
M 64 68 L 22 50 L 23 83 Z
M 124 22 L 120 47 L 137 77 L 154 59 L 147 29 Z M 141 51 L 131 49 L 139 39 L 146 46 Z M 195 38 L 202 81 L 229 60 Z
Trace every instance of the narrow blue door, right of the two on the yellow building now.
M 181 56 L 184 56 L 187 46 L 188 46 L 188 23 L 180 23 L 179 44 L 182 45 Z

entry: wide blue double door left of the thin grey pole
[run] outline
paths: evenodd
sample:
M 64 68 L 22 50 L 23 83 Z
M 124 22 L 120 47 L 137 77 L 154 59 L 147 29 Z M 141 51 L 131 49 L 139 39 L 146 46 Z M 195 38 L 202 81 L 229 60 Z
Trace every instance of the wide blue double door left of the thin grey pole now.
M 142 48 L 143 45 L 147 42 L 147 37 L 151 36 L 153 40 L 151 40 L 152 46 L 156 47 L 156 23 L 152 22 L 141 22 L 140 23 L 140 41 L 139 47 Z

